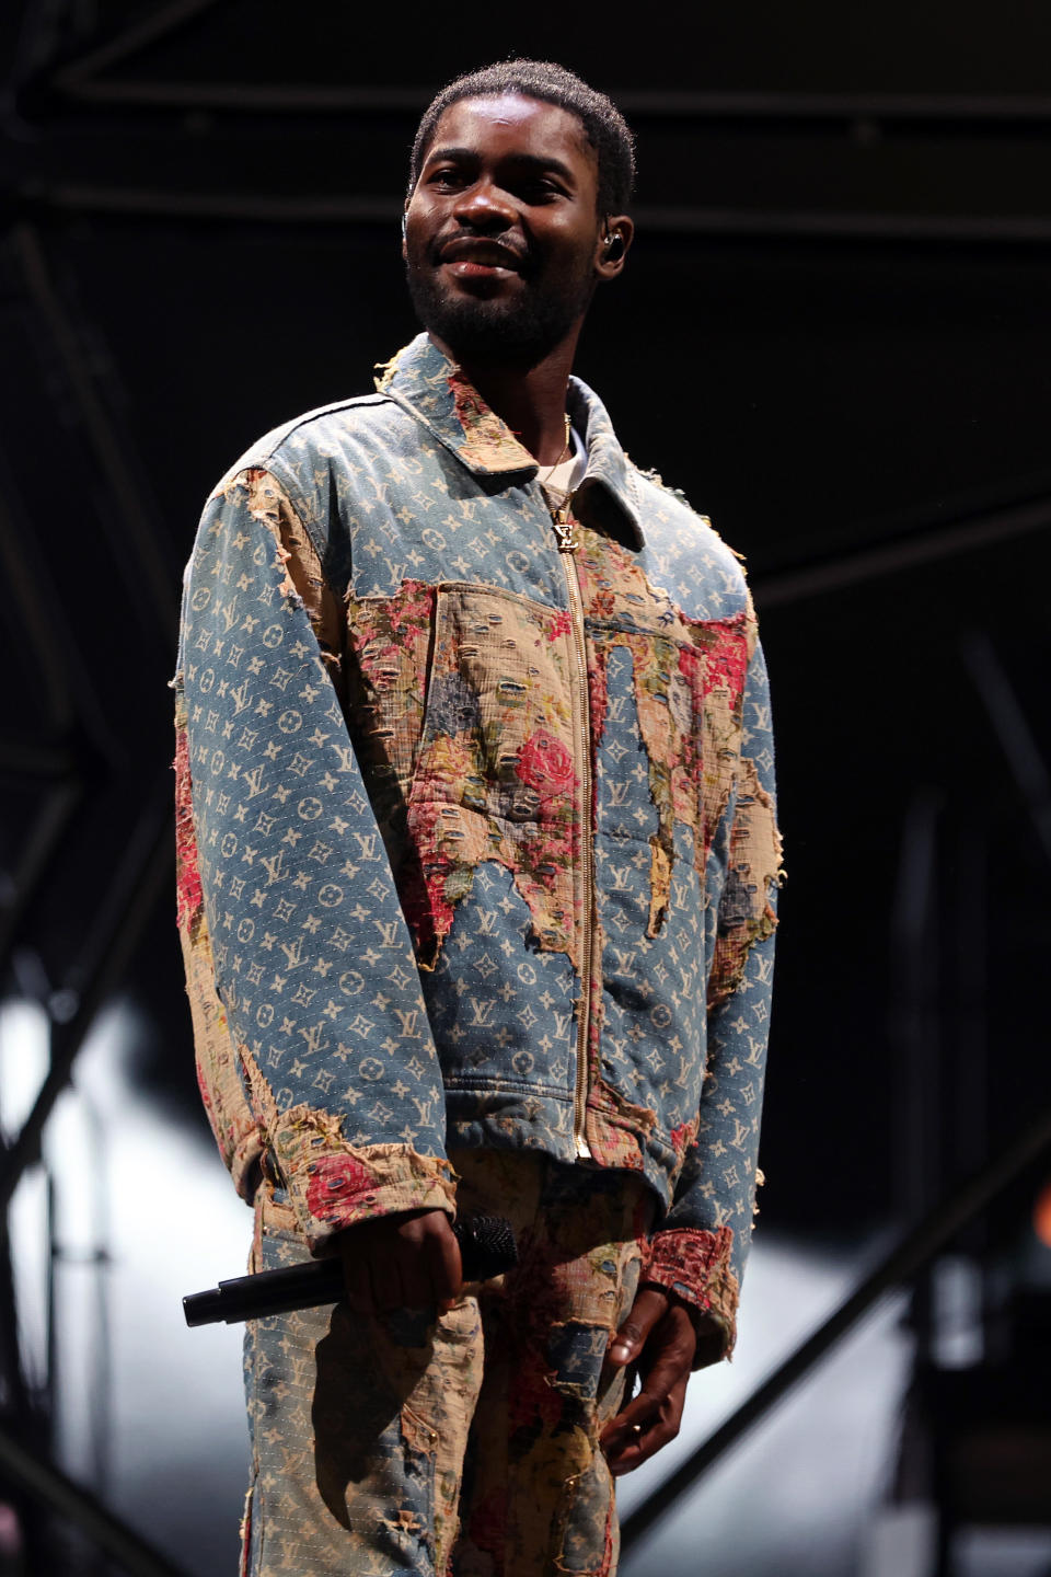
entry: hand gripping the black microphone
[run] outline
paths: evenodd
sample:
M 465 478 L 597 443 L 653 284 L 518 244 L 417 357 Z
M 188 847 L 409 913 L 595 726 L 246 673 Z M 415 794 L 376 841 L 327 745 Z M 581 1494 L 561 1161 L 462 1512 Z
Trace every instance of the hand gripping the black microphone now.
M 336 1241 L 347 1299 L 358 1314 L 444 1310 L 460 1296 L 460 1244 L 444 1210 L 403 1210 L 359 1221 Z

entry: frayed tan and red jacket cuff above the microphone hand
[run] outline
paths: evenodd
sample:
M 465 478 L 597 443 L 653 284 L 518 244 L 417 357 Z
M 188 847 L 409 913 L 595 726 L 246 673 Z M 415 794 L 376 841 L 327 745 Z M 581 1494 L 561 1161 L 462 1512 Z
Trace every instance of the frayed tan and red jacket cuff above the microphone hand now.
M 455 1180 L 449 1162 L 421 1156 L 410 1145 L 326 1143 L 285 1129 L 274 1145 L 280 1180 L 310 1254 L 359 1221 L 400 1210 L 444 1210 L 455 1216 Z M 268 1161 L 273 1153 L 268 1153 Z

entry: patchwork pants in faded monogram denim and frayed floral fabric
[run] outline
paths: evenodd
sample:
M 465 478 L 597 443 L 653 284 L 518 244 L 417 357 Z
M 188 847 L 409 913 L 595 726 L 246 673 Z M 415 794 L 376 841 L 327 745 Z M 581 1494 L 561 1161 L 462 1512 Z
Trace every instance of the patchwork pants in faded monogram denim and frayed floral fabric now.
M 597 1438 L 624 1375 L 603 1355 L 635 1296 L 651 1195 L 539 1154 L 451 1159 L 460 1210 L 511 1219 L 514 1271 L 436 1323 L 339 1303 L 247 1326 L 244 1577 L 616 1571 Z M 304 1257 L 268 1184 L 255 1214 L 254 1269 Z

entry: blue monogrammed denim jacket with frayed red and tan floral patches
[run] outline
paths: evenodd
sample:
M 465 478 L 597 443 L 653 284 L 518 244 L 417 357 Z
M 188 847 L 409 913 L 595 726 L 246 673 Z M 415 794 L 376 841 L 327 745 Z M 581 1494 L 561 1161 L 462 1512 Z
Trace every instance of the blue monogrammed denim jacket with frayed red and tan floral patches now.
M 235 1181 L 314 1251 L 455 1208 L 455 1148 L 641 1172 L 648 1279 L 733 1340 L 766 1055 L 769 700 L 744 576 L 570 380 L 537 465 L 419 336 L 208 500 L 176 691 L 178 918 Z

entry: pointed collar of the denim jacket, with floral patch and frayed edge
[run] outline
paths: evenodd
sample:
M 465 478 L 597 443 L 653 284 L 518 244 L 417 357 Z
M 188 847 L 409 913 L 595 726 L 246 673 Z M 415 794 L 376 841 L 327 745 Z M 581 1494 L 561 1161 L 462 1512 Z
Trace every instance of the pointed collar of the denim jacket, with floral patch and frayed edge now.
M 529 451 L 427 334 L 418 334 L 377 371 L 377 390 L 421 421 L 476 476 L 536 476 L 539 467 Z M 641 547 L 632 468 L 602 401 L 580 378 L 570 378 L 567 404 L 588 448 L 588 470 L 575 495 L 581 519 L 591 516 Z

